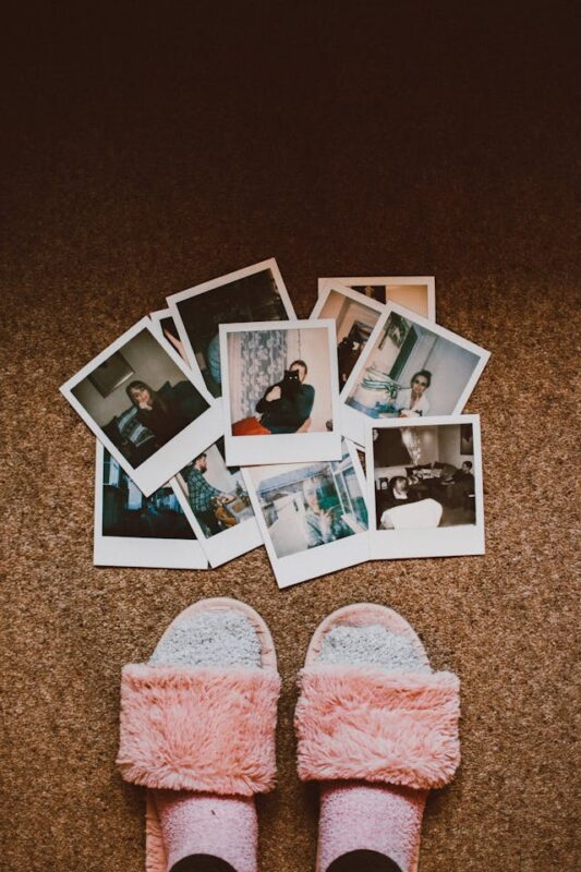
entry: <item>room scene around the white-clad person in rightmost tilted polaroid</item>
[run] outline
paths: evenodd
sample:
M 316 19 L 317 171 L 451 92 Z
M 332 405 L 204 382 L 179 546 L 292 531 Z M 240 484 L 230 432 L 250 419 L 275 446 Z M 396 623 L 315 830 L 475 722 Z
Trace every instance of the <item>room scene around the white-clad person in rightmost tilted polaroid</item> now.
M 427 372 L 422 414 L 451 414 L 479 361 L 461 344 L 391 312 L 347 403 L 372 417 L 398 417 L 409 407 L 412 377 Z

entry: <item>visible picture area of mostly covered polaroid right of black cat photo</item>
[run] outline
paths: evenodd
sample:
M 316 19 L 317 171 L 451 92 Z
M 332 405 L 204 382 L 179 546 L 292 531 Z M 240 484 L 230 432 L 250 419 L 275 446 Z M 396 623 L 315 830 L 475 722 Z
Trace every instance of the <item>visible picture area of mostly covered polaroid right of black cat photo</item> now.
M 339 390 L 342 390 L 351 371 L 365 348 L 380 312 L 363 301 L 331 290 L 320 311 L 319 318 L 334 318 L 337 324 L 337 355 L 339 362 Z

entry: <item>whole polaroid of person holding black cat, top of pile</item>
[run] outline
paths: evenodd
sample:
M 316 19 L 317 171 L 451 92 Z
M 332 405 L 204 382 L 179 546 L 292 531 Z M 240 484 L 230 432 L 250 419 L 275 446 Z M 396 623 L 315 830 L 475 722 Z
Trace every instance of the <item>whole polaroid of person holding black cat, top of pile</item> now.
M 220 325 L 228 465 L 339 460 L 335 322 Z

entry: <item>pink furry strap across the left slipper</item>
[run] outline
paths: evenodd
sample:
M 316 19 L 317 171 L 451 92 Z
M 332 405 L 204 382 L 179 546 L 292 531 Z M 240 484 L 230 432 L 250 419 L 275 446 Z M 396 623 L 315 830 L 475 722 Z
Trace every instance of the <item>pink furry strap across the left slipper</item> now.
M 219 795 L 270 790 L 279 692 L 274 669 L 125 666 L 117 759 L 123 778 Z

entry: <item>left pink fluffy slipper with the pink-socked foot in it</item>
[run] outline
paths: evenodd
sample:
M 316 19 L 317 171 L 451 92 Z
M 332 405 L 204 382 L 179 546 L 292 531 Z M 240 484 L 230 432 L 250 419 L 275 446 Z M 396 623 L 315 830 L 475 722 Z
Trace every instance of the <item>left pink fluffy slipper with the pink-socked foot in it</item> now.
M 256 872 L 279 692 L 268 627 L 237 600 L 190 606 L 148 663 L 123 668 L 117 763 L 148 788 L 147 872 Z

